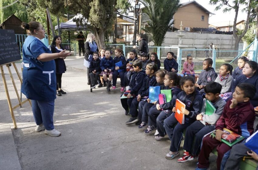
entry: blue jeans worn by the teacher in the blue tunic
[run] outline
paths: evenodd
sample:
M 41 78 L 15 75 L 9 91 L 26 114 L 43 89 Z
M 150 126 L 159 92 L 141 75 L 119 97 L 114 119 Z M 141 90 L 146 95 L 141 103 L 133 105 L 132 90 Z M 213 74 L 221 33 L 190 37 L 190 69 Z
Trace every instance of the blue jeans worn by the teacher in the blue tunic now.
M 46 130 L 54 129 L 53 114 L 55 107 L 55 100 L 39 101 L 31 100 L 32 113 L 37 125 L 44 124 Z

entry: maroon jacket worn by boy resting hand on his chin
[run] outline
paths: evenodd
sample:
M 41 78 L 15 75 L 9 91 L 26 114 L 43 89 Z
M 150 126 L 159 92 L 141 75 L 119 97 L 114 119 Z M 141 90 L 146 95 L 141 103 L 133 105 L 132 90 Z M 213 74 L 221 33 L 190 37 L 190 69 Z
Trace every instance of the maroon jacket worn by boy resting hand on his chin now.
M 216 130 L 222 130 L 224 127 L 245 138 L 253 134 L 253 123 L 255 112 L 250 101 L 238 103 L 233 109 L 230 109 L 231 100 L 229 100 L 217 121 Z

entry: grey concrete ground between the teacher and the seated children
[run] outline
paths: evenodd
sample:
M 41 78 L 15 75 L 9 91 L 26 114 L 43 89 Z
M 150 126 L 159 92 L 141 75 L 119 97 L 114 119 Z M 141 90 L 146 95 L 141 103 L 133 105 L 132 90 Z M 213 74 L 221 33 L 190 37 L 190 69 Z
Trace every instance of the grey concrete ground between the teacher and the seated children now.
M 0 170 L 157 170 L 196 167 L 196 159 L 186 163 L 178 163 L 179 157 L 166 160 L 170 146 L 168 139 L 156 141 L 153 133 L 146 135 L 135 125 L 125 124 L 130 117 L 124 115 L 121 107 L 120 88 L 107 93 L 106 88 L 102 87 L 90 93 L 83 57 L 67 58 L 66 66 L 62 87 L 67 94 L 57 96 L 55 100 L 54 125 L 62 133 L 60 137 L 34 131 L 36 124 L 28 102 L 14 111 L 18 126 L 15 130 L 1 81 L 0 142 L 5 145 L 0 145 Z M 16 105 L 18 100 L 12 82 L 8 74 L 5 76 L 12 104 Z M 14 74 L 14 77 L 20 90 L 17 75 Z M 12 133 L 10 129 L 8 133 L 2 131 L 8 126 L 11 126 Z M 182 147 L 180 152 L 182 156 Z M 214 155 L 210 157 L 210 169 L 216 169 L 215 159 Z

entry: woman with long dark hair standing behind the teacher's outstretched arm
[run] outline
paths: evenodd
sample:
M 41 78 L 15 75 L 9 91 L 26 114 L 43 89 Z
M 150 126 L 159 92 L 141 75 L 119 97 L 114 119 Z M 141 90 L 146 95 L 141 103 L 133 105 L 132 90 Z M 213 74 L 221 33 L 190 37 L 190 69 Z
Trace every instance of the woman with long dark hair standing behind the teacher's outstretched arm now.
M 62 38 L 60 36 L 55 36 L 53 42 L 51 44 L 51 52 L 52 53 L 60 53 L 63 51 L 63 47 L 61 46 Z M 59 57 L 55 59 L 56 63 L 56 95 L 62 96 L 62 94 L 66 94 L 65 91 L 62 90 L 62 75 L 66 72 L 66 65 L 64 62 L 65 57 Z

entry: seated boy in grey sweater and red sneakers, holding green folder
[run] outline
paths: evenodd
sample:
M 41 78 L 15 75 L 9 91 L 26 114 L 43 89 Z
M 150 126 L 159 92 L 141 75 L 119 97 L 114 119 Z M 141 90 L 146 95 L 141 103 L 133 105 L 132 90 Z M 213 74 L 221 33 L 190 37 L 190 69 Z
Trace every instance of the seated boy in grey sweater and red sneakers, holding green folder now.
M 196 120 L 186 128 L 185 142 L 183 149 L 184 155 L 179 158 L 178 162 L 192 161 L 199 155 L 202 138 L 205 134 L 215 130 L 217 120 L 222 114 L 226 102 L 219 97 L 222 86 L 219 83 L 212 82 L 204 87 L 205 97 L 202 103 L 201 113 L 197 115 Z M 216 108 L 212 115 L 205 114 L 206 100 L 209 100 Z M 193 143 L 195 138 L 195 142 Z

